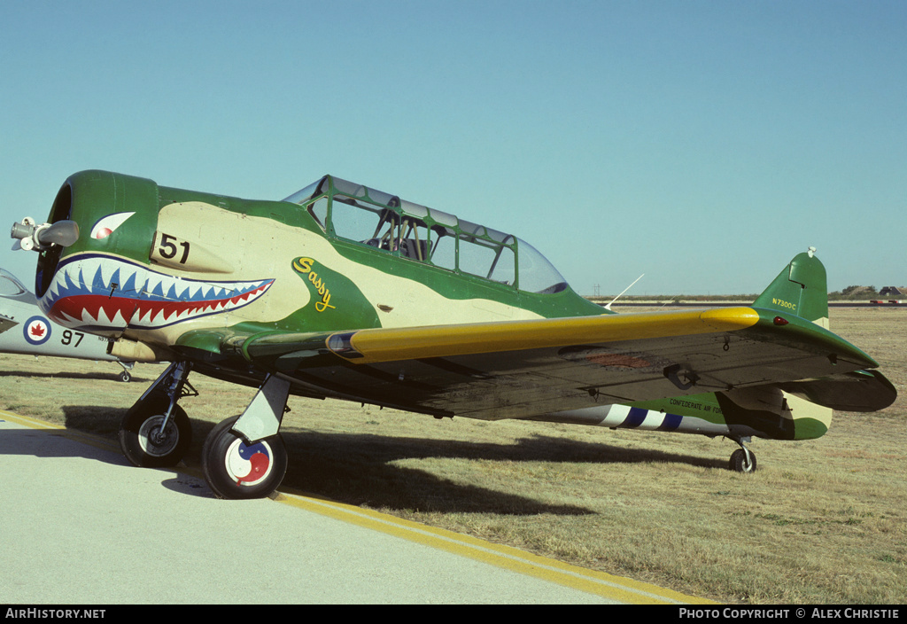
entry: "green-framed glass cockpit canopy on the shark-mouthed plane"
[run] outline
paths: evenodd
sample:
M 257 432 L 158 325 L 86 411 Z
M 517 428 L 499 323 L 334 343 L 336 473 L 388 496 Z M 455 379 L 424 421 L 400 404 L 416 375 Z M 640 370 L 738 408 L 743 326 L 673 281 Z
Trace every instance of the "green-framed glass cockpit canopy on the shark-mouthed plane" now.
M 305 207 L 339 239 L 528 292 L 567 288 L 524 240 L 361 184 L 325 176 L 284 201 Z

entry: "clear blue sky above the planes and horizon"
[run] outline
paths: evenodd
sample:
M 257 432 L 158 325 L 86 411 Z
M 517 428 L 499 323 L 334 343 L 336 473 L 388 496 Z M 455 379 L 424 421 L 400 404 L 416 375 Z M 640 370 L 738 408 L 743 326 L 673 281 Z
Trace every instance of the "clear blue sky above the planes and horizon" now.
M 4 228 L 84 169 L 252 199 L 333 173 L 583 294 L 758 292 L 810 245 L 831 289 L 907 285 L 902 0 L 0 0 L 0 63 Z

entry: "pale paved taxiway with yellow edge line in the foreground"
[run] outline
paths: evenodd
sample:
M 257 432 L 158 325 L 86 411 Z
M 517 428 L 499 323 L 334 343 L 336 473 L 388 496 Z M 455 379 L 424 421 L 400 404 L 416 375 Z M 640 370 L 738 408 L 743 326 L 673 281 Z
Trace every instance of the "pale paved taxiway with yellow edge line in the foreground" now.
M 0 474 L 10 604 L 704 602 L 338 502 L 221 501 L 2 410 Z

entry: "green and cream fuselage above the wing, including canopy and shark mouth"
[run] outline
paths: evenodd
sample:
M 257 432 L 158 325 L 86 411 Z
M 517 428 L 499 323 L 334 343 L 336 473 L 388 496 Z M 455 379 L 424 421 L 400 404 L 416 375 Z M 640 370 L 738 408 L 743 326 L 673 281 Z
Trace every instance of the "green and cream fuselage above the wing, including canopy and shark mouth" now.
M 160 348 L 193 327 L 304 332 L 603 313 L 510 235 L 334 178 L 299 201 L 75 174 L 53 220 L 91 224 L 91 235 L 44 252 L 41 306 L 69 327 Z

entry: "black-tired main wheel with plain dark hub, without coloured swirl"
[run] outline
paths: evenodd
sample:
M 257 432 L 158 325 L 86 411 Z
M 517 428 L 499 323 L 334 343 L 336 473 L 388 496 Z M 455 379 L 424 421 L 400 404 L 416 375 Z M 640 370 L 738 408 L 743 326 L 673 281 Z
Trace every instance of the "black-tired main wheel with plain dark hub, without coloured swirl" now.
M 141 468 L 162 468 L 180 463 L 192 443 L 192 425 L 189 416 L 173 405 L 164 437 L 156 435 L 164 420 L 170 401 L 166 396 L 150 396 L 132 405 L 120 424 L 120 448 L 126 458 Z

